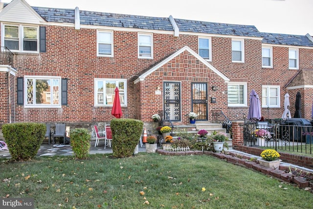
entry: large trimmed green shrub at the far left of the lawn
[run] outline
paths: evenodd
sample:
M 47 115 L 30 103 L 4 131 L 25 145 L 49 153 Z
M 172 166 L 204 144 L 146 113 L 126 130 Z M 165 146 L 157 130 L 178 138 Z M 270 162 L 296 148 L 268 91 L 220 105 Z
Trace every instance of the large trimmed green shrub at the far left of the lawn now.
M 12 159 L 27 161 L 33 158 L 45 138 L 43 123 L 10 123 L 2 126 L 2 133 Z

